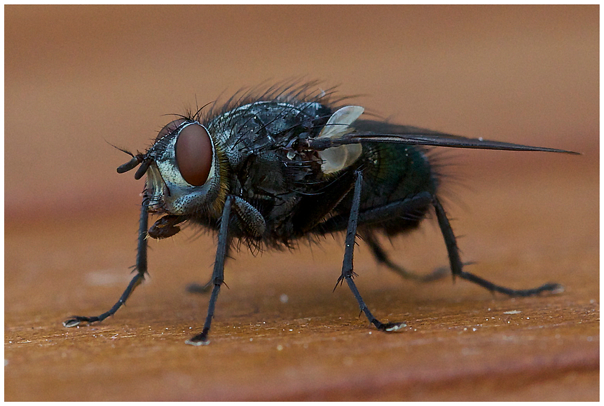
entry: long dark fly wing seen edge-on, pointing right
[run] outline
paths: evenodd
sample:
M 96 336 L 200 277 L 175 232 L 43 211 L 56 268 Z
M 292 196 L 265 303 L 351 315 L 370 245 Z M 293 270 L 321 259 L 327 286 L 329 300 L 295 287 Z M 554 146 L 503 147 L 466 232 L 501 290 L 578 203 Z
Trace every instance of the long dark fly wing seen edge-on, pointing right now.
M 318 140 L 312 143 L 317 150 L 338 147 L 339 145 L 358 144 L 362 142 L 390 142 L 408 145 L 428 145 L 432 147 L 500 149 L 504 151 L 545 151 L 561 152 L 564 154 L 579 154 L 564 149 L 531 147 L 530 145 L 511 144 L 483 140 L 482 138 L 467 138 L 459 135 L 439 133 L 412 126 L 399 126 L 373 120 L 357 120 L 352 124 L 355 132 L 334 137 L 329 140 Z

